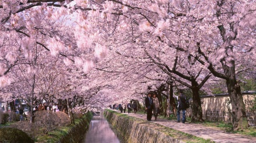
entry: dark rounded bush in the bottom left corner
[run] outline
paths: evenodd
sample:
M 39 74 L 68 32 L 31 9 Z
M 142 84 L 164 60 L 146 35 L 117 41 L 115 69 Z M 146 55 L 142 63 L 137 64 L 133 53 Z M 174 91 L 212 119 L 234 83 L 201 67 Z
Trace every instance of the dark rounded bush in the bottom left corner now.
M 19 143 L 19 142 L 34 142 L 31 140 L 29 135 L 24 133 L 22 130 L 15 128 L 2 128 L 0 129 L 0 142 L 10 142 L 10 143 Z

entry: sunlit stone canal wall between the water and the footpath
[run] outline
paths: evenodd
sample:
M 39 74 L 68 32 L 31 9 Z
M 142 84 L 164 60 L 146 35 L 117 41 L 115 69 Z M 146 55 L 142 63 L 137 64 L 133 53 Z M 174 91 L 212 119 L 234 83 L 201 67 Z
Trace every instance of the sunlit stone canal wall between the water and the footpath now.
M 105 109 L 104 116 L 117 130 L 118 136 L 121 136 L 125 142 L 183 142 L 170 137 L 168 129 L 159 124 L 133 118 L 108 109 Z

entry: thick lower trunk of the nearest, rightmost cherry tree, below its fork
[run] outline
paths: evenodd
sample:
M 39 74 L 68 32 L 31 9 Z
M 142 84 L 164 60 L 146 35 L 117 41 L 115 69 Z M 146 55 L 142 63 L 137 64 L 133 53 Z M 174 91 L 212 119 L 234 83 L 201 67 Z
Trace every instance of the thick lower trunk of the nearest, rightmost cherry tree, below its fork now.
M 239 83 L 235 76 L 226 80 L 227 91 L 229 93 L 232 105 L 232 125 L 234 130 L 244 129 L 248 127 L 246 117 L 246 106 L 244 105 L 243 96 Z

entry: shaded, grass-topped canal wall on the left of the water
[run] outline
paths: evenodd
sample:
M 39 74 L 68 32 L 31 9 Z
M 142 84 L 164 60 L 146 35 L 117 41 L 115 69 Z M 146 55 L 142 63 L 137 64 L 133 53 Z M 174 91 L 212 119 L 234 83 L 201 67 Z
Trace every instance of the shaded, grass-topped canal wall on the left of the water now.
M 59 141 L 61 143 L 74 143 L 81 142 L 84 139 L 84 134 L 89 128 L 91 119 L 93 118 L 93 113 L 87 112 L 86 115 L 81 118 L 80 122 L 73 126 L 67 134 L 63 135 Z

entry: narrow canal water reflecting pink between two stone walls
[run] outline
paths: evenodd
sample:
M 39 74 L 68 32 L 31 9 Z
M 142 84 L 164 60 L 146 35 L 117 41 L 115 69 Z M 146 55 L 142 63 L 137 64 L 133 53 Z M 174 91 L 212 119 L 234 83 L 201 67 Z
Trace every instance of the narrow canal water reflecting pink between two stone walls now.
M 111 129 L 108 121 L 102 115 L 94 116 L 89 130 L 84 135 L 83 143 L 119 143 L 118 136 Z

